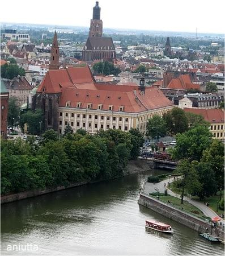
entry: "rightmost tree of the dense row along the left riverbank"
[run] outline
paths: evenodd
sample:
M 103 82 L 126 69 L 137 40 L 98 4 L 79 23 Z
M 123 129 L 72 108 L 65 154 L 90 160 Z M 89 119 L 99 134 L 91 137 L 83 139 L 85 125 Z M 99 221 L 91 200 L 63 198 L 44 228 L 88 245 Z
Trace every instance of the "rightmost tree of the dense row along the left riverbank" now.
M 131 144 L 133 146 L 130 151 L 130 157 L 131 159 L 136 159 L 139 156 L 140 147 L 143 146 L 145 140 L 143 134 L 138 129 L 131 128 L 129 133 L 131 134 Z

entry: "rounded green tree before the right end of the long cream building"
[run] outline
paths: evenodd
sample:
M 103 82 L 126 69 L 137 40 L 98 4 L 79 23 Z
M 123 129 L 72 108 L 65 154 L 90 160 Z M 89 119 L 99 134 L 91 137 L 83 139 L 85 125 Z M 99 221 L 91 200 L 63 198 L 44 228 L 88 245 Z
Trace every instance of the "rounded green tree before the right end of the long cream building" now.
M 153 115 L 147 122 L 146 134 L 148 137 L 157 138 L 164 137 L 167 134 L 167 125 L 165 120 L 159 115 Z

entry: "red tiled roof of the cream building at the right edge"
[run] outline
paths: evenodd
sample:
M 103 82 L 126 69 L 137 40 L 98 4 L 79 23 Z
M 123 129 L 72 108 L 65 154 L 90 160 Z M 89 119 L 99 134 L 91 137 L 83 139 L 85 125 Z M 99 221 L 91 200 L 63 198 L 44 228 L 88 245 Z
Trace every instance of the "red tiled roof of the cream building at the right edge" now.
M 202 115 L 205 121 L 210 123 L 224 122 L 224 112 L 222 109 L 189 109 L 184 108 L 185 112 Z

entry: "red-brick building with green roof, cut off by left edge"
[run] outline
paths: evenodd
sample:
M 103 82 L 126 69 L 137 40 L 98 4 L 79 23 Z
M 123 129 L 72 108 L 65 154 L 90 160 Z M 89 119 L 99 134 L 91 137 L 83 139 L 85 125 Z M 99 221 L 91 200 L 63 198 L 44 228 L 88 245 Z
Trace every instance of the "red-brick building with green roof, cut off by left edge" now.
M 6 89 L 5 82 L 1 79 L 1 136 L 7 138 L 7 115 L 8 115 L 8 103 L 9 92 Z

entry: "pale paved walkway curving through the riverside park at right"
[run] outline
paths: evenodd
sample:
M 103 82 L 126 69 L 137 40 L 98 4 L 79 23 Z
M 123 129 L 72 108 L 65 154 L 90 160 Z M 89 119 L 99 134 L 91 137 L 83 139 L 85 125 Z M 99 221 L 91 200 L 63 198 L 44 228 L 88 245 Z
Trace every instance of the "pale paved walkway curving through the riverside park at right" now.
M 180 178 L 180 177 L 178 177 L 178 178 Z M 169 179 L 160 181 L 159 183 L 156 183 L 156 184 L 146 182 L 145 190 L 143 192 L 145 192 L 148 195 L 149 193 L 157 192 L 155 190 L 155 188 L 156 188 L 156 189 L 159 189 L 159 193 L 164 193 L 164 191 L 165 191 L 164 184 L 166 184 L 166 186 L 167 186 L 168 183 L 172 183 L 172 182 L 173 182 L 173 177 L 170 177 Z M 170 189 L 168 189 L 168 187 L 167 187 L 167 191 L 168 191 L 169 195 L 177 197 L 177 198 L 181 198 L 179 194 L 172 192 Z M 207 217 L 213 218 L 215 216 L 218 216 L 218 214 L 216 214 L 214 212 L 214 210 L 210 209 L 202 202 L 190 199 L 189 197 L 186 197 L 186 196 L 184 196 L 184 201 L 188 201 L 188 203 L 190 203 L 190 204 L 194 205 L 195 207 L 197 207 L 198 209 L 200 209 Z M 222 225 L 224 224 L 224 220 L 221 220 L 219 222 L 222 222 Z

